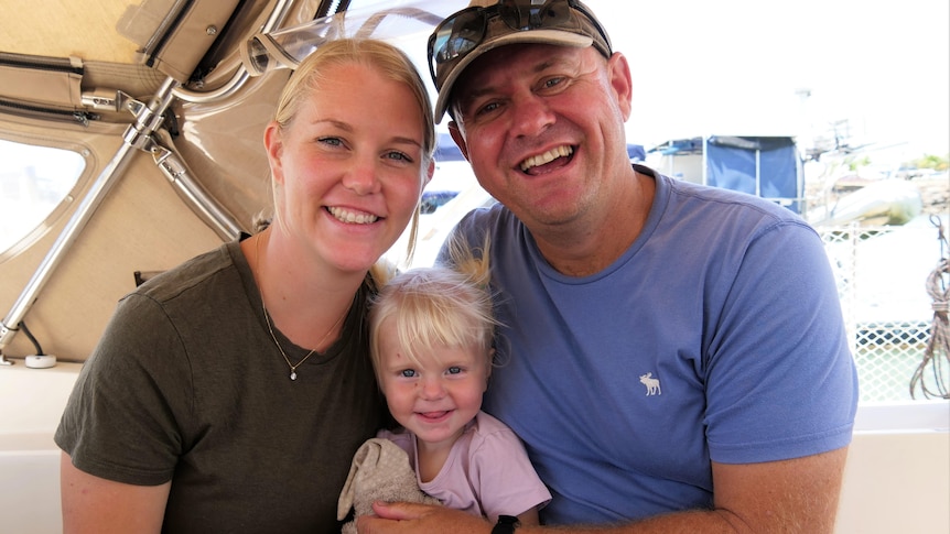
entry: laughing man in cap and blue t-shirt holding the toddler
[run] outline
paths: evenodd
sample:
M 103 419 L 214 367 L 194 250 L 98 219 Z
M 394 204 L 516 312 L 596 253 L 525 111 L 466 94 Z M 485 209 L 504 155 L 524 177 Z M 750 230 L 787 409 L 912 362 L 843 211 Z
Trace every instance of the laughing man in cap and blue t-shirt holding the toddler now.
M 549 486 L 542 522 L 832 532 L 857 381 L 817 233 L 631 166 L 629 67 L 581 2 L 473 2 L 436 29 L 430 64 L 436 118 L 500 203 L 456 232 L 492 240 L 507 327 L 485 408 Z M 360 532 L 512 532 L 376 512 Z

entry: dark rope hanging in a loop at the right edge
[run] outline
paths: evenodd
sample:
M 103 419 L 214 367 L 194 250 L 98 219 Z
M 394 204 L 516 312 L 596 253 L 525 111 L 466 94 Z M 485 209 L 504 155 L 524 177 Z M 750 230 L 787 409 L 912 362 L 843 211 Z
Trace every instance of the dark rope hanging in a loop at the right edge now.
M 943 275 L 950 275 L 950 261 L 944 255 L 943 247 L 947 244 L 947 238 L 943 236 L 943 226 L 939 224 L 939 218 L 931 222 L 938 227 L 940 239 L 941 260 L 937 264 L 937 269 L 930 272 L 927 276 L 927 293 L 932 301 L 933 322 L 930 325 L 930 339 L 927 341 L 927 349 L 924 351 L 924 359 L 917 369 L 914 371 L 914 377 L 910 379 L 910 397 L 915 399 L 914 390 L 920 386 L 925 399 L 939 397 L 950 399 L 950 324 L 948 324 L 948 314 L 950 314 L 950 288 Z M 925 381 L 928 368 L 933 375 L 933 386 L 931 390 Z

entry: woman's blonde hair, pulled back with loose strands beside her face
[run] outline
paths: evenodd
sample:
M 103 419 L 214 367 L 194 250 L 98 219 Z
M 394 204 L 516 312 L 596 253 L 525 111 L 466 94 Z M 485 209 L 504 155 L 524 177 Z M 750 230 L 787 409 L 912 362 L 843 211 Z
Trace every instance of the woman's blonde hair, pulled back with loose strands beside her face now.
M 419 75 L 419 70 L 412 64 L 409 56 L 396 46 L 371 39 L 339 39 L 321 44 L 312 54 L 306 56 L 294 70 L 293 75 L 284 85 L 278 100 L 274 121 L 281 130 L 285 130 L 296 118 L 302 102 L 313 92 L 319 91 L 327 79 L 325 70 L 331 66 L 338 65 L 364 65 L 374 68 L 387 79 L 406 85 L 415 97 L 422 119 L 422 161 L 420 173 L 425 174 L 429 162 L 435 152 L 435 123 L 432 120 L 432 102 L 429 92 Z M 354 80 L 359 83 L 359 80 Z M 274 205 L 277 205 L 277 188 L 274 192 Z M 280 222 L 279 217 L 274 218 Z M 266 226 L 266 225 L 265 225 Z M 411 233 L 407 257 L 412 258 L 415 249 L 415 239 L 419 230 L 419 206 L 412 216 Z

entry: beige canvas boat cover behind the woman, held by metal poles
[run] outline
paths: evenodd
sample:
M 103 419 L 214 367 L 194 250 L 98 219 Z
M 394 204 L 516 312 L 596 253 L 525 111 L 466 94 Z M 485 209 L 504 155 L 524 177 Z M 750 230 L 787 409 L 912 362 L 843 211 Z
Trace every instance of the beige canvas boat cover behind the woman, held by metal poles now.
M 149 41 L 179 3 L 192 7 L 150 55 Z M 3 358 L 35 353 L 20 335 L 22 319 L 44 352 L 85 360 L 116 302 L 134 288 L 136 272 L 169 269 L 230 238 L 233 231 L 208 225 L 184 198 L 182 187 L 162 171 L 160 155 L 171 156 L 163 161 L 166 166 L 179 164 L 195 178 L 234 222 L 231 230 L 249 230 L 252 217 L 268 207 L 262 131 L 290 72 L 241 77 L 236 43 L 267 22 L 280 28 L 309 21 L 320 2 L 248 1 L 236 13 L 239 3 L 43 0 L 15 4 L 4 20 L 0 139 L 74 151 L 86 168 L 61 208 L 0 251 Z M 134 137 L 136 112 L 145 115 L 142 110 L 163 87 L 173 90 L 160 126 L 137 140 L 149 150 L 129 150 L 107 194 L 14 322 L 8 310 L 116 165 L 128 144 L 123 139 Z

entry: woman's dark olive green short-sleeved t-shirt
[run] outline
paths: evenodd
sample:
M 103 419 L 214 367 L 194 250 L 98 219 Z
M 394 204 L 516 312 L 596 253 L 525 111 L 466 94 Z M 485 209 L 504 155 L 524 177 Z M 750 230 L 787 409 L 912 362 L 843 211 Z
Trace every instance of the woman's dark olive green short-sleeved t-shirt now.
M 97 477 L 171 480 L 164 532 L 338 532 L 353 455 L 386 418 L 366 293 L 291 381 L 237 241 L 163 273 L 119 302 L 56 444 Z M 291 362 L 306 355 L 274 335 Z

